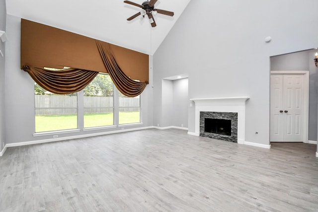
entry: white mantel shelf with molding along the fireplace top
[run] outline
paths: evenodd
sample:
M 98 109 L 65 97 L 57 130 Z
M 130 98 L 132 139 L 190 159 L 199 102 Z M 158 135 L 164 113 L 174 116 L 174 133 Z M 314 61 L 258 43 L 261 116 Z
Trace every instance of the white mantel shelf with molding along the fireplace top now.
M 249 97 L 224 97 L 224 98 L 203 98 L 203 99 L 190 99 L 196 105 L 245 105 Z

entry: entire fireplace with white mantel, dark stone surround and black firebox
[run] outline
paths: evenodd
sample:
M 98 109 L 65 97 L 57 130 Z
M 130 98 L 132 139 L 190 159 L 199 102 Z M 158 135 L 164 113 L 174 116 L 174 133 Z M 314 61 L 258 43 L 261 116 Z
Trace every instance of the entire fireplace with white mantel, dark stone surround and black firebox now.
M 245 141 L 245 102 L 247 99 L 249 97 L 190 99 L 195 102 L 195 133 L 192 135 L 243 144 Z M 204 127 L 201 127 L 206 118 L 212 119 L 207 121 L 212 124 L 217 122 L 214 129 L 211 129 L 210 132 L 204 132 Z M 219 121 L 222 119 L 231 120 L 231 136 L 222 135 L 229 134 L 224 132 L 225 128 L 228 128 L 226 125 L 229 122 Z M 215 131 L 220 132 L 220 130 L 221 133 L 215 133 Z

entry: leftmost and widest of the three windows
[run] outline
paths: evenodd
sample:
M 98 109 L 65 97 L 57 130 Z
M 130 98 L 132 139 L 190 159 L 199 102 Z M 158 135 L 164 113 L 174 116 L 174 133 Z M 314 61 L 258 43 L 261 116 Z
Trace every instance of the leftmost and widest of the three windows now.
M 77 93 L 58 95 L 34 84 L 35 132 L 78 128 Z

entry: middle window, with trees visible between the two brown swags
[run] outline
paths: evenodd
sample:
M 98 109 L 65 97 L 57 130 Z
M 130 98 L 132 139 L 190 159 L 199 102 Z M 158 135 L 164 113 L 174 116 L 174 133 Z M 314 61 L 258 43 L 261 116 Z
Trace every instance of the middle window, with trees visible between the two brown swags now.
M 114 124 L 113 87 L 110 76 L 99 73 L 84 88 L 84 128 Z

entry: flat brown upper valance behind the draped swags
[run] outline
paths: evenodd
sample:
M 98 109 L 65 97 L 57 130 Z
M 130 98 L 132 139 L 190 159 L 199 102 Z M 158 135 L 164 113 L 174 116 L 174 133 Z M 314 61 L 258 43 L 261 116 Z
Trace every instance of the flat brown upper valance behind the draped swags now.
M 141 82 L 149 81 L 148 55 L 108 45 L 125 75 Z M 21 69 L 25 65 L 40 69 L 72 67 L 108 73 L 95 39 L 21 19 Z

